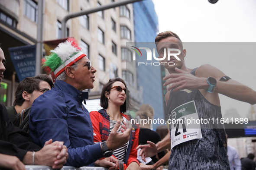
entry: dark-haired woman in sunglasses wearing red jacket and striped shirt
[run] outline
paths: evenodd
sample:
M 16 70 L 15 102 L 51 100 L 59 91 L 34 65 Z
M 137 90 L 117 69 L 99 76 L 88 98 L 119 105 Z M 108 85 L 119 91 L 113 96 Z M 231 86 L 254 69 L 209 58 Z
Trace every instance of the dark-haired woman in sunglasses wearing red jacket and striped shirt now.
M 123 125 L 123 121 L 129 121 L 132 118 L 130 115 L 123 114 L 130 108 L 130 94 L 123 79 L 110 79 L 104 85 L 100 95 L 100 106 L 104 109 L 90 113 L 94 143 L 107 141 L 117 120 L 120 120 Z M 121 133 L 121 129 L 120 126 L 117 132 Z M 139 162 L 136 159 L 138 141 L 139 126 L 133 124 L 130 140 L 113 151 L 113 156 L 123 161 L 124 170 L 139 170 Z

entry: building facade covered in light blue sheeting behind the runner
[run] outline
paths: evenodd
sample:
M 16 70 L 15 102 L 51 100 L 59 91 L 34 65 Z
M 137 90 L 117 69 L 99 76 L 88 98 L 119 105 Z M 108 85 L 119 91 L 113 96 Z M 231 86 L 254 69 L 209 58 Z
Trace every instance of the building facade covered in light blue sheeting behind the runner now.
M 158 16 L 152 0 L 133 3 L 135 47 L 140 42 L 154 42 L 158 28 Z M 142 57 L 136 57 L 137 63 L 143 62 Z M 160 66 L 136 65 L 137 89 L 142 91 L 139 104 L 150 104 L 155 111 L 154 119 L 164 119 L 164 104 L 162 94 L 162 79 Z M 153 125 L 155 129 L 158 125 Z

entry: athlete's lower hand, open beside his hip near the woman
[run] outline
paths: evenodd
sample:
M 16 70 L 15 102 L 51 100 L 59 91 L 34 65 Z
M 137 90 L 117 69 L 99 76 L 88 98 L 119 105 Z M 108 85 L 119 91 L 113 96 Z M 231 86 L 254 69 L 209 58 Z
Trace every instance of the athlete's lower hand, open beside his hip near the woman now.
M 139 156 L 146 162 L 146 157 L 152 157 L 157 154 L 157 147 L 153 142 L 147 141 L 149 145 L 139 145 L 136 149 L 141 149 L 139 151 Z

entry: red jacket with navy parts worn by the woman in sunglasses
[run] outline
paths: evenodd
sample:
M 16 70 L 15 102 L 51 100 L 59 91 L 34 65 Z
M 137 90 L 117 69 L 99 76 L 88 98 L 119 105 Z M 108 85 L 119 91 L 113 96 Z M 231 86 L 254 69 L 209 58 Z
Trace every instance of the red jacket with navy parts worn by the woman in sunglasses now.
M 127 120 L 131 119 L 130 115 L 125 115 L 121 113 Z M 105 109 L 101 109 L 98 112 L 92 111 L 90 113 L 91 123 L 93 126 L 94 132 L 94 142 L 104 142 L 107 140 L 109 135 L 109 116 Z M 137 162 L 137 150 L 136 147 L 139 143 L 139 126 L 137 124 L 133 124 L 133 130 L 130 136 L 129 145 L 127 146 L 125 161 L 124 161 L 124 170 L 130 165 L 132 162 Z

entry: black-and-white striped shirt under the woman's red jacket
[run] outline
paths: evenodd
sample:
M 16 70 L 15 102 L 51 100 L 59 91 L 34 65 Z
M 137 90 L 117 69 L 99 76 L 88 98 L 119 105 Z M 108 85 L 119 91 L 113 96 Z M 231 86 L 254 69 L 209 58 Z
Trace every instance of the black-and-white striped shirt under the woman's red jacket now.
M 113 127 L 115 126 L 116 123 L 117 123 L 117 121 L 110 120 L 109 133 L 113 130 Z M 121 122 L 121 125 L 123 125 L 123 122 Z M 121 128 L 122 127 L 120 126 L 119 129 L 117 130 L 118 133 L 122 133 L 121 130 L 120 130 Z M 127 146 L 128 146 L 128 142 L 126 142 L 126 144 L 124 144 L 120 148 L 113 151 L 113 155 L 115 157 L 117 157 L 118 161 L 123 161 L 124 162 Z

